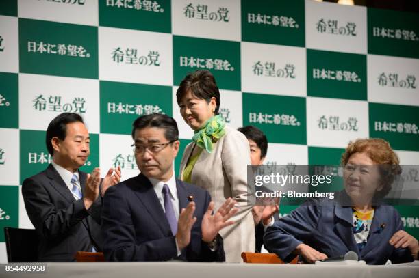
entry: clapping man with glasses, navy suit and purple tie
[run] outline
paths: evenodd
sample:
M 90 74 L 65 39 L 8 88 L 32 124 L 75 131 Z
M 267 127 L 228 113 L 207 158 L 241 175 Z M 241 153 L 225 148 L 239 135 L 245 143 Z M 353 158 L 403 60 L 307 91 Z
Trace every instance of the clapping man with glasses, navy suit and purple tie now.
M 234 222 L 231 198 L 214 212 L 210 194 L 175 178 L 179 131 L 172 117 L 138 117 L 132 128 L 140 174 L 109 189 L 102 231 L 108 261 L 223 262 L 218 231 Z

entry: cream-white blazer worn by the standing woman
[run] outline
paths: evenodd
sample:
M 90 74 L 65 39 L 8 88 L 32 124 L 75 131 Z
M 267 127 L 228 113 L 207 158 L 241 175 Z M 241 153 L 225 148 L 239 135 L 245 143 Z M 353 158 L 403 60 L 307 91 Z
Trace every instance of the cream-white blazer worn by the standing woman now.
M 224 240 L 226 262 L 242 262 L 242 252 L 255 252 L 253 206 L 247 204 L 251 194 L 247 186 L 247 165 L 251 164 L 249 141 L 233 128 L 226 126 L 225 131 L 225 135 L 214 143 L 211 154 L 206 150 L 201 152 L 192 170 L 191 183 L 210 192 L 215 211 L 229 197 L 237 201 L 239 210 L 231 218 L 236 223 L 220 230 L 220 235 Z M 183 152 L 179 179 L 194 145 L 189 143 Z

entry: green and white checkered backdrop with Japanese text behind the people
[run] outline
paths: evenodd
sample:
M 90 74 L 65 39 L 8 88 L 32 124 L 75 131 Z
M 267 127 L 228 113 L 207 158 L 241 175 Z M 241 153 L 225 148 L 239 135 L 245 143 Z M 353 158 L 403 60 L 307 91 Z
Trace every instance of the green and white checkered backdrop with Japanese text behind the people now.
M 20 186 L 51 161 L 55 115 L 86 120 L 84 171 L 136 176 L 139 115 L 173 115 L 182 150 L 190 142 L 175 92 L 196 69 L 216 77 L 230 126 L 264 130 L 267 164 L 338 164 L 359 137 L 419 164 L 418 14 L 309 0 L 1 0 L 0 262 L 3 227 L 33 227 Z M 419 237 L 419 210 L 398 210 Z

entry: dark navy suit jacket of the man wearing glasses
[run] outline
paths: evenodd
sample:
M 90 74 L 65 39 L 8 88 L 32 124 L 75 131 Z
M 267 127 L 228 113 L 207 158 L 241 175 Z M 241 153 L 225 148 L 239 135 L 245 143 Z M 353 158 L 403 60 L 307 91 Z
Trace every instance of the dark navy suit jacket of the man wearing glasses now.
M 210 204 L 210 194 L 192 184 L 176 180 L 179 210 L 188 206 L 188 196 L 196 203 L 197 220 L 188 247 L 177 257 L 175 236 L 149 179 L 140 174 L 107 189 L 103 197 L 102 231 L 108 261 L 167 261 L 173 259 L 224 261 L 222 240 L 211 251 L 201 240 L 201 221 Z

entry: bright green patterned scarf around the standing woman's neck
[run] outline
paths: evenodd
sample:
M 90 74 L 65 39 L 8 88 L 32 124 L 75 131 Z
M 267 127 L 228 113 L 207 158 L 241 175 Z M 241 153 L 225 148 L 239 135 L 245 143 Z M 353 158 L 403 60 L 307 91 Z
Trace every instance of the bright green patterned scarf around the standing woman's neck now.
M 224 127 L 225 122 L 223 121 L 223 117 L 220 115 L 211 117 L 210 120 L 207 120 L 203 128 L 194 132 L 195 135 L 192 137 L 192 141 L 194 141 L 199 148 L 203 148 L 211 153 L 213 148 L 212 143 L 225 135 Z

